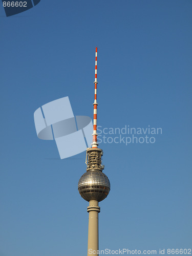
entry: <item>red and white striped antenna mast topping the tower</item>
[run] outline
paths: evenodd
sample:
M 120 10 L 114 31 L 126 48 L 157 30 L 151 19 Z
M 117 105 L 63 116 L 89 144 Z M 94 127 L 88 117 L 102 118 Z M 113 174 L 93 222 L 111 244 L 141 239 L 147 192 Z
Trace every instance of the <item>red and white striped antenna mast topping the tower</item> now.
M 99 145 L 97 143 L 97 47 L 95 49 L 95 99 L 94 99 L 94 110 L 93 110 L 93 143 L 92 143 L 92 147 L 93 148 L 97 148 L 97 146 Z

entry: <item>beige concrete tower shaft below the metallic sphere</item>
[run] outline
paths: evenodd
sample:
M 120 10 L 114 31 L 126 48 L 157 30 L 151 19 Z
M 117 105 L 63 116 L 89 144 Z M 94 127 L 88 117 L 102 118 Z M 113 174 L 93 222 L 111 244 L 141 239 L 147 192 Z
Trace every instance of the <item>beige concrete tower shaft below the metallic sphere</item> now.
M 88 229 L 88 256 L 97 255 L 99 249 L 98 214 L 100 207 L 97 200 L 89 201 L 89 229 Z

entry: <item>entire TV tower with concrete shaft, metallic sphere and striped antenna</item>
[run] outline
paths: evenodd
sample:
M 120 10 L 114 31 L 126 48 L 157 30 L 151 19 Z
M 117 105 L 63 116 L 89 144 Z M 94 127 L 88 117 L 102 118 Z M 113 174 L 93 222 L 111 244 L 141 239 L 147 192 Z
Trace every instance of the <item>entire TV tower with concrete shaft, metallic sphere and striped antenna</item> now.
M 93 142 L 92 147 L 86 151 L 87 172 L 79 179 L 78 190 L 81 197 L 89 202 L 89 229 L 88 229 L 88 256 L 96 253 L 99 249 L 98 239 L 98 203 L 104 200 L 110 192 L 110 181 L 102 172 L 101 157 L 103 151 L 98 148 L 97 142 L 97 47 L 95 52 L 95 99 L 93 112 Z

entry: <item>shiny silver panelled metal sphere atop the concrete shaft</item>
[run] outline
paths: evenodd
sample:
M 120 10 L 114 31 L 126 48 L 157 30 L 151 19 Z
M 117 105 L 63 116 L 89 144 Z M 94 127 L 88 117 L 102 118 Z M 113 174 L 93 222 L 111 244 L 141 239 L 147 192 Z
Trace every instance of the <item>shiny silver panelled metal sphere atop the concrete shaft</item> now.
M 86 200 L 102 201 L 110 192 L 110 181 L 100 170 L 89 170 L 79 179 L 78 190 L 81 197 Z

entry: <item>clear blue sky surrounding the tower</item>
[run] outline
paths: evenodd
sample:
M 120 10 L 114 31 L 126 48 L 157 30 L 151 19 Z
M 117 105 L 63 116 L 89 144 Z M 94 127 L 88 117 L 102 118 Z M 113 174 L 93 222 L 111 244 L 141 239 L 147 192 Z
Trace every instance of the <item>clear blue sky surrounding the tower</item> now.
M 1 256 L 87 254 L 86 154 L 60 160 L 33 113 L 69 96 L 74 115 L 93 116 L 95 46 L 98 125 L 162 128 L 155 143 L 100 143 L 111 191 L 99 248 L 191 248 L 191 11 L 189 0 L 0 8 Z

